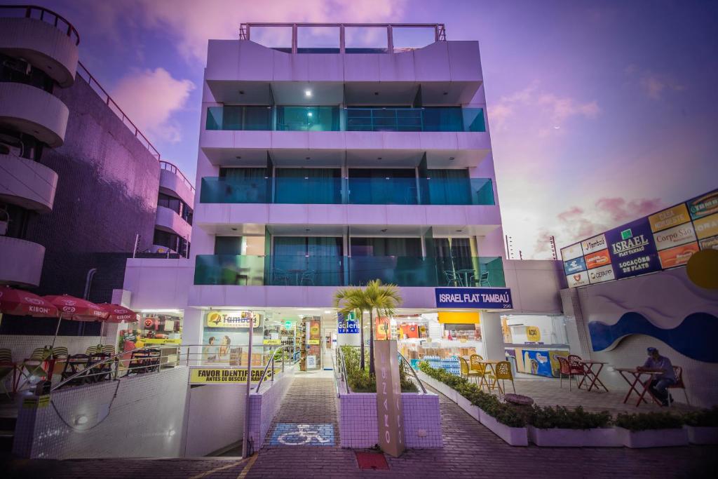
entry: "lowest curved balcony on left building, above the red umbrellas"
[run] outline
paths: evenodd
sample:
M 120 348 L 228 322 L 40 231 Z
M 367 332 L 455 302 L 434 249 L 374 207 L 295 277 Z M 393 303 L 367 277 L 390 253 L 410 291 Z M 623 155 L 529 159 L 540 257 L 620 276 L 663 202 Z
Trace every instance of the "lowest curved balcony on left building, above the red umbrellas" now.
M 0 284 L 39 285 L 44 259 L 45 246 L 0 236 Z

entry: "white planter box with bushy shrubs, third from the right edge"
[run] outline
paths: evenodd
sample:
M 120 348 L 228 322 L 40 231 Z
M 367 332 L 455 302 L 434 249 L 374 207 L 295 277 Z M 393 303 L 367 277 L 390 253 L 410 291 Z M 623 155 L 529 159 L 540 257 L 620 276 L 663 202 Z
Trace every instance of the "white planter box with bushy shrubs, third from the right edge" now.
M 610 422 L 607 411 L 588 412 L 582 406 L 573 410 L 563 406 L 533 406 L 528 438 L 537 446 L 620 447 L 623 442 Z

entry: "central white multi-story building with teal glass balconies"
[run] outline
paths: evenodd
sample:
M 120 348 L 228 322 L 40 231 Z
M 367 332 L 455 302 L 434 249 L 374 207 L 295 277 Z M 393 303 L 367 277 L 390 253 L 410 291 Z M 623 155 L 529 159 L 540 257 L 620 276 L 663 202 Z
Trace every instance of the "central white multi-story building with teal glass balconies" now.
M 254 42 L 260 27 L 288 29 L 292 44 Z M 419 27 L 429 45 L 393 47 Z M 335 47 L 301 45 L 320 28 Z M 385 45 L 353 46 L 360 28 Z M 400 314 L 416 317 L 437 312 L 437 287 L 518 286 L 485 106 L 478 42 L 447 41 L 442 24 L 244 24 L 239 39 L 210 40 L 190 259 L 129 260 L 127 304 L 182 310 L 186 344 L 220 333 L 246 345 L 211 327 L 218 310 L 252 312 L 265 335 L 314 321 L 330 344 L 337 287 L 397 284 Z M 554 265 L 541 267 L 555 292 Z M 481 324 L 501 340 L 497 312 Z

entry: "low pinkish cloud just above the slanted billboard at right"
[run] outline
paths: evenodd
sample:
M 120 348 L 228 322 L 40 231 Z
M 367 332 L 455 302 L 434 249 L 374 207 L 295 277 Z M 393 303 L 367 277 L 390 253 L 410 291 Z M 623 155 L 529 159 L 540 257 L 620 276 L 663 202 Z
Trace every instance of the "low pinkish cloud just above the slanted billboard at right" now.
M 656 198 L 626 200 L 623 197 L 602 197 L 589 208 L 572 206 L 556 215 L 554 227 L 538 230 L 533 251 L 535 254 L 549 252 L 548 238 L 551 235 L 556 236 L 556 245 L 561 248 L 650 215 L 660 210 L 662 205 L 663 202 Z

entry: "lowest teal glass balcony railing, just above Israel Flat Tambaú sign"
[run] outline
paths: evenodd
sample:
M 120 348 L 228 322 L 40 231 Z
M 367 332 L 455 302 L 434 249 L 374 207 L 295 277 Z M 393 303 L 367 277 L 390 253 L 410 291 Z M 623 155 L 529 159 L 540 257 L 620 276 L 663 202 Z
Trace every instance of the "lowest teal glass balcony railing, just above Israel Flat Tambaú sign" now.
M 197 255 L 196 285 L 505 287 L 500 257 Z

